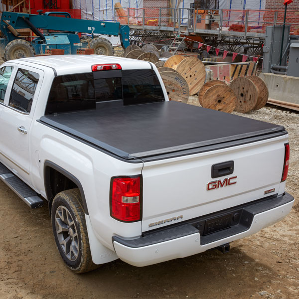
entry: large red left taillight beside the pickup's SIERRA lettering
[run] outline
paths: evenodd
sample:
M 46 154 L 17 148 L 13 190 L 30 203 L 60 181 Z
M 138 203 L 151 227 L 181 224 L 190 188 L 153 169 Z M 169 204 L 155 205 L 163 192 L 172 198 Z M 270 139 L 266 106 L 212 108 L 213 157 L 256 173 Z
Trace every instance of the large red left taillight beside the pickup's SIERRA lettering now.
M 111 178 L 110 215 L 125 222 L 139 221 L 141 212 L 141 176 Z

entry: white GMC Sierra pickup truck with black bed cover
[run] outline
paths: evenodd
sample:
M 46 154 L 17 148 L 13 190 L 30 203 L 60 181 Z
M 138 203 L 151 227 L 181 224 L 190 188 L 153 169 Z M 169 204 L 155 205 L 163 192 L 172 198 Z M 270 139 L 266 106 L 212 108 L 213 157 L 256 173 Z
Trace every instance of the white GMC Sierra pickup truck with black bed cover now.
M 1 180 L 31 208 L 47 202 L 76 273 L 225 252 L 294 203 L 284 127 L 168 101 L 147 61 L 7 61 L 0 127 Z

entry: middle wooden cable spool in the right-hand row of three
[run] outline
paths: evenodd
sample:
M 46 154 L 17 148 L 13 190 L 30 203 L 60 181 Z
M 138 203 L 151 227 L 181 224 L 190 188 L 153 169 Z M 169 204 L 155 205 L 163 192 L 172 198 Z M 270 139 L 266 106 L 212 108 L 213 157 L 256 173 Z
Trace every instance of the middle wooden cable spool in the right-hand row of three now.
M 235 111 L 246 113 L 254 109 L 258 101 L 258 89 L 246 77 L 239 77 L 232 81 L 230 87 L 237 96 Z

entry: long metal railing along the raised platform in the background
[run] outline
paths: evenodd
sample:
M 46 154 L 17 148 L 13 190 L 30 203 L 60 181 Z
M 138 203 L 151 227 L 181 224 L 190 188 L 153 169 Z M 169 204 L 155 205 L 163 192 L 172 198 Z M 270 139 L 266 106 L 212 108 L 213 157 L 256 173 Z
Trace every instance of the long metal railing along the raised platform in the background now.
M 116 8 L 114 21 L 135 29 L 160 29 L 183 33 L 257 36 L 266 27 L 283 23 L 283 10 L 236 10 L 194 8 Z M 299 16 L 288 11 L 291 33 L 299 34 Z

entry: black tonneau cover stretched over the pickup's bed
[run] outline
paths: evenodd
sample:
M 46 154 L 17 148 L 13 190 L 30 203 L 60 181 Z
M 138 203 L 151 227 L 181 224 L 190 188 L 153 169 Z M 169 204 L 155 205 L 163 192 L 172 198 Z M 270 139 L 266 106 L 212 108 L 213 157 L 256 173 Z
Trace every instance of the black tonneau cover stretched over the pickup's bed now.
M 48 115 L 40 122 L 125 159 L 285 130 L 283 126 L 173 101 Z

